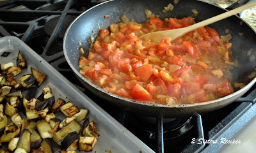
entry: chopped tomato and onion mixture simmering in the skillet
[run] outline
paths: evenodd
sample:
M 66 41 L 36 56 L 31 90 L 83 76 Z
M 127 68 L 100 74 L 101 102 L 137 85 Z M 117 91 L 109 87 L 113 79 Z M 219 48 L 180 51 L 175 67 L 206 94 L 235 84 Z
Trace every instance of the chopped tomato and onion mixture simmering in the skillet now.
M 228 81 L 232 44 L 211 27 L 201 27 L 172 42 L 140 40 L 145 33 L 188 27 L 192 17 L 151 17 L 147 23 L 120 22 L 101 29 L 80 73 L 102 89 L 125 98 L 180 105 L 232 94 Z M 220 43 L 221 42 L 221 43 Z

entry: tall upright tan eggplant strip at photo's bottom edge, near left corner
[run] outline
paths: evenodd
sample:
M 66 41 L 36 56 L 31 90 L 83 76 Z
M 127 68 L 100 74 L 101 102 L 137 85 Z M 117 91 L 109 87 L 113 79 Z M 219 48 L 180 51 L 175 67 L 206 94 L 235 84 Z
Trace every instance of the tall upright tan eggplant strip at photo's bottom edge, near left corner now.
M 26 152 L 30 152 L 30 132 L 28 129 L 24 129 L 20 135 L 19 142 L 17 144 L 17 149 L 19 148 L 25 149 Z

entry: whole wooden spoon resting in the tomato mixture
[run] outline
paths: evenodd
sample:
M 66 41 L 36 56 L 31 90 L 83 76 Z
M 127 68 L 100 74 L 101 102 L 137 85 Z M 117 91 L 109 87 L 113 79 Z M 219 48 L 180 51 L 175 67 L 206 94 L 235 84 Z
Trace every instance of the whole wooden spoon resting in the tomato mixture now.
M 197 24 L 190 25 L 189 27 L 182 27 L 179 29 L 148 33 L 148 34 L 144 34 L 143 36 L 140 36 L 140 39 L 145 41 L 151 40 L 154 43 L 159 43 L 164 37 L 168 37 L 168 38 L 172 38 L 172 41 L 174 41 L 177 38 L 180 38 L 181 36 L 183 36 L 184 34 L 189 33 L 190 31 L 193 31 L 200 27 L 204 27 L 205 25 L 212 24 L 214 22 L 230 17 L 232 15 L 236 15 L 237 13 L 244 11 L 248 8 L 252 8 L 253 6 L 256 6 L 256 1 L 253 3 L 246 4 L 244 6 L 241 6 L 239 8 L 236 8 L 234 10 L 230 10 L 220 15 L 217 15 L 216 17 L 208 18 L 207 20 L 198 22 Z

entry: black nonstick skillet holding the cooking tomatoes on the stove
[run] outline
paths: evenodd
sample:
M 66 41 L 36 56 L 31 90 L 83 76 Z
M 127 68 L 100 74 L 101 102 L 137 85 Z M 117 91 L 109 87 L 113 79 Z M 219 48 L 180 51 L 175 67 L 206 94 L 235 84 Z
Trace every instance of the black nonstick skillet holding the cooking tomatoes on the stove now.
M 214 17 L 220 13 L 224 13 L 227 10 L 214 6 L 212 4 L 207 4 L 201 1 L 186 1 L 180 0 L 179 3 L 173 4 L 174 10 L 168 11 L 168 13 L 162 13 L 164 6 L 169 3 L 173 4 L 173 1 L 169 0 L 115 0 L 108 1 L 106 3 L 99 4 L 90 10 L 85 11 L 79 17 L 70 24 L 65 33 L 63 40 L 63 51 L 67 59 L 68 64 L 76 73 L 77 78 L 81 80 L 81 83 L 86 87 L 86 89 L 95 93 L 96 96 L 106 99 L 111 105 L 120 106 L 127 111 L 141 113 L 143 115 L 149 115 L 154 117 L 184 117 L 195 115 L 196 113 L 205 113 L 217 110 L 226 106 L 237 98 L 243 96 L 243 94 L 248 91 L 255 83 L 256 78 L 248 78 L 253 71 L 255 71 L 255 61 L 250 62 L 249 57 L 246 55 L 250 48 L 253 48 L 252 54 L 255 55 L 256 49 L 256 34 L 250 25 L 243 22 L 243 20 L 237 16 L 232 16 L 209 25 L 210 27 L 216 29 L 220 35 L 227 35 L 225 33 L 226 29 L 229 29 L 230 34 L 232 34 L 233 43 L 232 47 L 232 58 L 237 59 L 239 66 L 232 70 L 233 79 L 230 80 L 234 82 L 244 82 L 246 87 L 240 89 L 233 94 L 225 96 L 224 98 L 216 99 L 214 101 L 208 101 L 204 103 L 196 103 L 191 105 L 157 105 L 142 103 L 140 101 L 134 101 L 132 99 L 122 98 L 111 94 L 103 89 L 100 89 L 96 85 L 92 84 L 86 78 L 79 73 L 79 57 L 81 53 L 79 51 L 78 41 L 83 42 L 83 49 L 88 52 L 88 47 L 90 46 L 90 36 L 93 38 L 97 37 L 99 30 L 102 28 L 108 29 L 110 24 L 115 24 L 120 22 L 120 15 L 124 14 L 128 18 L 134 19 L 136 22 L 145 22 L 145 9 L 152 11 L 155 15 L 160 15 L 160 18 L 175 17 L 183 18 L 192 16 L 191 10 L 194 8 L 200 12 L 200 15 L 195 17 L 196 22 L 200 22 L 207 18 Z M 104 18 L 105 15 L 109 15 L 108 18 Z M 243 22 L 243 23 L 242 23 Z M 92 31 L 95 31 L 94 33 Z M 243 36 L 239 35 L 243 33 Z M 106 103 L 104 101 L 104 103 Z

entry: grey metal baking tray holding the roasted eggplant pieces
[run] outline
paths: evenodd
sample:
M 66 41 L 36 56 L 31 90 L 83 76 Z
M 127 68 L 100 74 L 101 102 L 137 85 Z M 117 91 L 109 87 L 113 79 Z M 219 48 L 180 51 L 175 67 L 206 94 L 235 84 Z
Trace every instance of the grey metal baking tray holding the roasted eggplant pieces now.
M 23 41 L 14 36 L 0 38 L 0 55 L 3 52 L 11 52 L 8 57 L 0 57 L 1 63 L 12 61 L 16 65 L 16 59 L 19 51 L 27 60 L 28 68 L 22 70 L 22 74 L 31 74 L 31 66 L 38 71 L 47 75 L 45 82 L 40 85 L 36 92 L 36 98 L 42 93 L 43 87 L 50 86 L 55 99 L 62 98 L 65 101 L 72 101 L 79 108 L 89 110 L 87 117 L 94 120 L 99 129 L 99 140 L 97 141 L 92 152 L 154 152 L 141 142 L 122 124 L 117 122 L 111 115 L 106 113 L 92 99 L 88 98 L 83 92 L 79 91 L 67 78 L 63 77 L 56 69 L 46 62 L 40 55 L 36 54 Z M 58 117 L 58 114 L 56 115 Z

